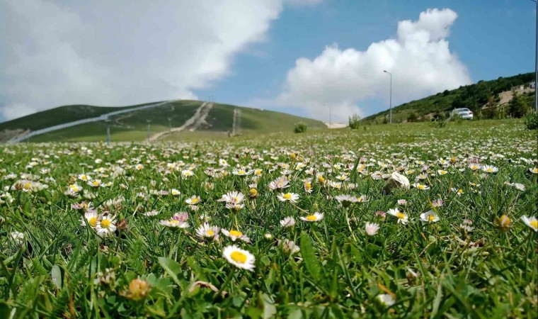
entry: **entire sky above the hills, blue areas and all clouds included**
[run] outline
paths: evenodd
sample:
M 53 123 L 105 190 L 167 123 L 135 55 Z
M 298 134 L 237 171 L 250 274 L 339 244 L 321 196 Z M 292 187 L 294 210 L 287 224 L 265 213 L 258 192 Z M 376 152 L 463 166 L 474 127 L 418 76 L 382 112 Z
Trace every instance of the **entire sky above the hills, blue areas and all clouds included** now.
M 214 99 L 335 121 L 534 69 L 530 0 L 0 0 L 0 121 Z

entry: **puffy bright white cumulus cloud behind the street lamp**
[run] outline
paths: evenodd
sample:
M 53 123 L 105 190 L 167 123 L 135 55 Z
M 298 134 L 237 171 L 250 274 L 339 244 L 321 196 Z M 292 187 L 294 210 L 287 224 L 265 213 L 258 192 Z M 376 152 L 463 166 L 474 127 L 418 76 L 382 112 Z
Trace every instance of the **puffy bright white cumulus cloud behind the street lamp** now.
M 299 58 L 275 102 L 324 119 L 326 103 L 333 119 L 344 121 L 353 113 L 372 113 L 360 108 L 365 100 L 388 100 L 389 74 L 383 70 L 393 74 L 396 102 L 469 84 L 467 67 L 450 52 L 446 40 L 456 18 L 450 9 L 428 9 L 418 21 L 400 21 L 396 38 L 372 43 L 365 51 L 333 44 L 313 60 Z

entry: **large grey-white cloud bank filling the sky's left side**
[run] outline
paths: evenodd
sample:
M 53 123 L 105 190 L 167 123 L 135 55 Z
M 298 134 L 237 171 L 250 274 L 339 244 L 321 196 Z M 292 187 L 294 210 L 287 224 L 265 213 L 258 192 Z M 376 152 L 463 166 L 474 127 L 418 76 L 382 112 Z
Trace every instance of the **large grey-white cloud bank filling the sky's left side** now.
M 281 0 L 0 0 L 0 112 L 195 98 L 280 11 Z

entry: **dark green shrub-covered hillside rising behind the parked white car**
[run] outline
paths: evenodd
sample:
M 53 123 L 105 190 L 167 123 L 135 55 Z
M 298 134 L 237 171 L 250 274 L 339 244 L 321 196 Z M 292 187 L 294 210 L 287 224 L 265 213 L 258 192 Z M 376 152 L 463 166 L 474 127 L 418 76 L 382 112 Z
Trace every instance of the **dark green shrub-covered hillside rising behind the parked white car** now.
M 534 72 L 518 74 L 513 77 L 499 77 L 491 81 L 479 81 L 476 84 L 459 86 L 452 91 L 445 90 L 424 99 L 411 101 L 392 108 L 392 121 L 399 123 L 407 121 L 414 113 L 418 119 L 428 119 L 439 113 L 449 113 L 453 108 L 469 108 L 477 114 L 486 104 L 496 106 L 500 101 L 503 91 L 510 91 L 513 86 L 529 85 L 534 81 Z M 530 101 L 530 94 L 524 94 L 525 101 Z M 362 121 L 367 123 L 383 123 L 388 119 L 389 110 L 382 111 L 372 116 L 367 116 Z

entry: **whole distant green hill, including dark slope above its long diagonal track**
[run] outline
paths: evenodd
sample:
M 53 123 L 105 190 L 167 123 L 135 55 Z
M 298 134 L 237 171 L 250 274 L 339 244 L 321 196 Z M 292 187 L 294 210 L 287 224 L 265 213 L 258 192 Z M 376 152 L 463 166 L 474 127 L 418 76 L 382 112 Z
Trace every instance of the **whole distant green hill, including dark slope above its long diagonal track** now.
M 55 130 L 50 133 L 43 133 L 33 136 L 28 141 L 104 141 L 107 127 L 110 128 L 110 137 L 113 141 L 145 140 L 148 134 L 148 121 L 150 124 L 150 135 L 166 132 L 170 128 L 181 127 L 185 124 L 185 121 L 193 118 L 201 105 L 201 101 L 171 101 L 155 108 L 146 108 L 111 116 L 108 122 L 96 121 L 84 123 Z M 61 106 L 13 121 L 0 123 L 0 132 L 5 132 L 6 130 L 38 130 L 52 125 L 69 123 L 83 118 L 93 118 L 112 111 L 137 106 L 125 106 L 122 108 L 85 105 Z M 299 121 L 307 123 L 309 129 L 312 130 L 326 128 L 321 121 L 315 121 L 309 118 L 301 118 L 275 111 L 263 111 L 256 108 L 214 103 L 209 113 L 207 113 L 205 121 L 199 125 L 195 132 L 173 133 L 164 135 L 159 140 L 182 140 L 183 135 L 190 135 L 191 138 L 192 136 L 195 136 L 195 138 L 226 137 L 227 132 L 231 131 L 232 123 L 234 122 L 234 109 L 241 111 L 238 121 L 239 133 L 241 134 L 292 132 L 294 124 Z M 5 140 L 7 139 L 4 138 Z

